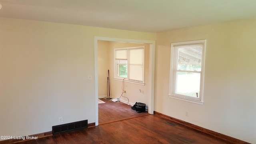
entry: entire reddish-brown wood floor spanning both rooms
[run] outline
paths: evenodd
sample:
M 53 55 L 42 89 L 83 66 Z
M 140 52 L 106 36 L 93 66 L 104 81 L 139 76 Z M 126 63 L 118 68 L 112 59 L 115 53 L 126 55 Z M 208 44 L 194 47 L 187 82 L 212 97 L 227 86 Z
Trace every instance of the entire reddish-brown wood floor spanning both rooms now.
M 21 142 L 21 144 L 232 144 L 208 134 L 151 115 L 136 113 L 122 102 L 99 104 L 99 126 Z M 234 143 L 235 144 L 235 143 Z

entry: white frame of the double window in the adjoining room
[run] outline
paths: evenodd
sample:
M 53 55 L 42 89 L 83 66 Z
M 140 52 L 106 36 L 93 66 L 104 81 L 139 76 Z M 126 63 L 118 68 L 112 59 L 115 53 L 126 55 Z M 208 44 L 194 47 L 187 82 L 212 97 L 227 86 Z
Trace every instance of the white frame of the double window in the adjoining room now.
M 131 80 L 129 79 L 129 67 L 130 67 L 130 55 L 129 50 L 131 49 L 143 49 L 143 68 L 142 68 L 142 81 L 138 80 Z M 116 62 L 116 50 L 127 50 L 127 78 L 119 77 L 117 72 L 117 62 Z M 144 83 L 144 76 L 145 76 L 145 46 L 135 46 L 135 47 L 126 47 L 126 48 L 114 48 L 114 79 L 115 80 L 124 80 L 126 82 L 134 83 L 134 84 L 140 84 L 145 85 Z

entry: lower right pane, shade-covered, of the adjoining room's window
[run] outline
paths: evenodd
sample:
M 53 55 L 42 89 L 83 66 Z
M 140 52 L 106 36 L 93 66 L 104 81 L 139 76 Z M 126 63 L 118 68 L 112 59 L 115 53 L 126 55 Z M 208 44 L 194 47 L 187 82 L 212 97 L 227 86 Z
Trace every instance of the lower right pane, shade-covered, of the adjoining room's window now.
M 142 65 L 130 65 L 130 79 L 143 81 L 143 66 Z

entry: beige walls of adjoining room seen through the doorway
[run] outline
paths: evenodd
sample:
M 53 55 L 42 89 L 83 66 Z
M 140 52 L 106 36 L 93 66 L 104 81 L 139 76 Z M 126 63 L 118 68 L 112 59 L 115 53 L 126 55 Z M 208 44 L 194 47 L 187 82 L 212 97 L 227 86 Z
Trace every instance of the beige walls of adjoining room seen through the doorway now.
M 99 97 L 107 94 L 107 72 L 110 70 L 110 96 L 119 98 L 122 94 L 122 81 L 114 80 L 114 48 L 125 48 L 133 46 L 145 46 L 145 85 L 125 82 L 126 93 L 123 96 L 129 98 L 129 103 L 143 102 L 148 106 L 150 102 L 150 81 L 149 81 L 149 44 L 135 44 L 124 42 L 106 42 L 98 41 L 98 76 L 99 76 Z M 108 50 L 108 52 L 106 52 Z M 102 62 L 106 59 L 108 62 Z M 108 65 L 108 66 L 106 66 Z M 100 70 L 105 68 L 105 70 Z M 103 73 L 103 74 L 102 74 Z M 104 75 L 103 77 L 100 77 Z M 142 92 L 140 93 L 140 90 Z M 121 98 L 123 102 L 128 102 L 126 98 Z

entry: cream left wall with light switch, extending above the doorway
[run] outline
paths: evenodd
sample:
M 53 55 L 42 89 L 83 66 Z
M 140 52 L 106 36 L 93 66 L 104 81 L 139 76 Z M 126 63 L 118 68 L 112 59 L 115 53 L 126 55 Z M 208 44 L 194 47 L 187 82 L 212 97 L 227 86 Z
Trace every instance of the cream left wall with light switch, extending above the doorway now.
M 154 33 L 0 18 L 1 136 L 95 122 L 94 36 L 156 39 Z

